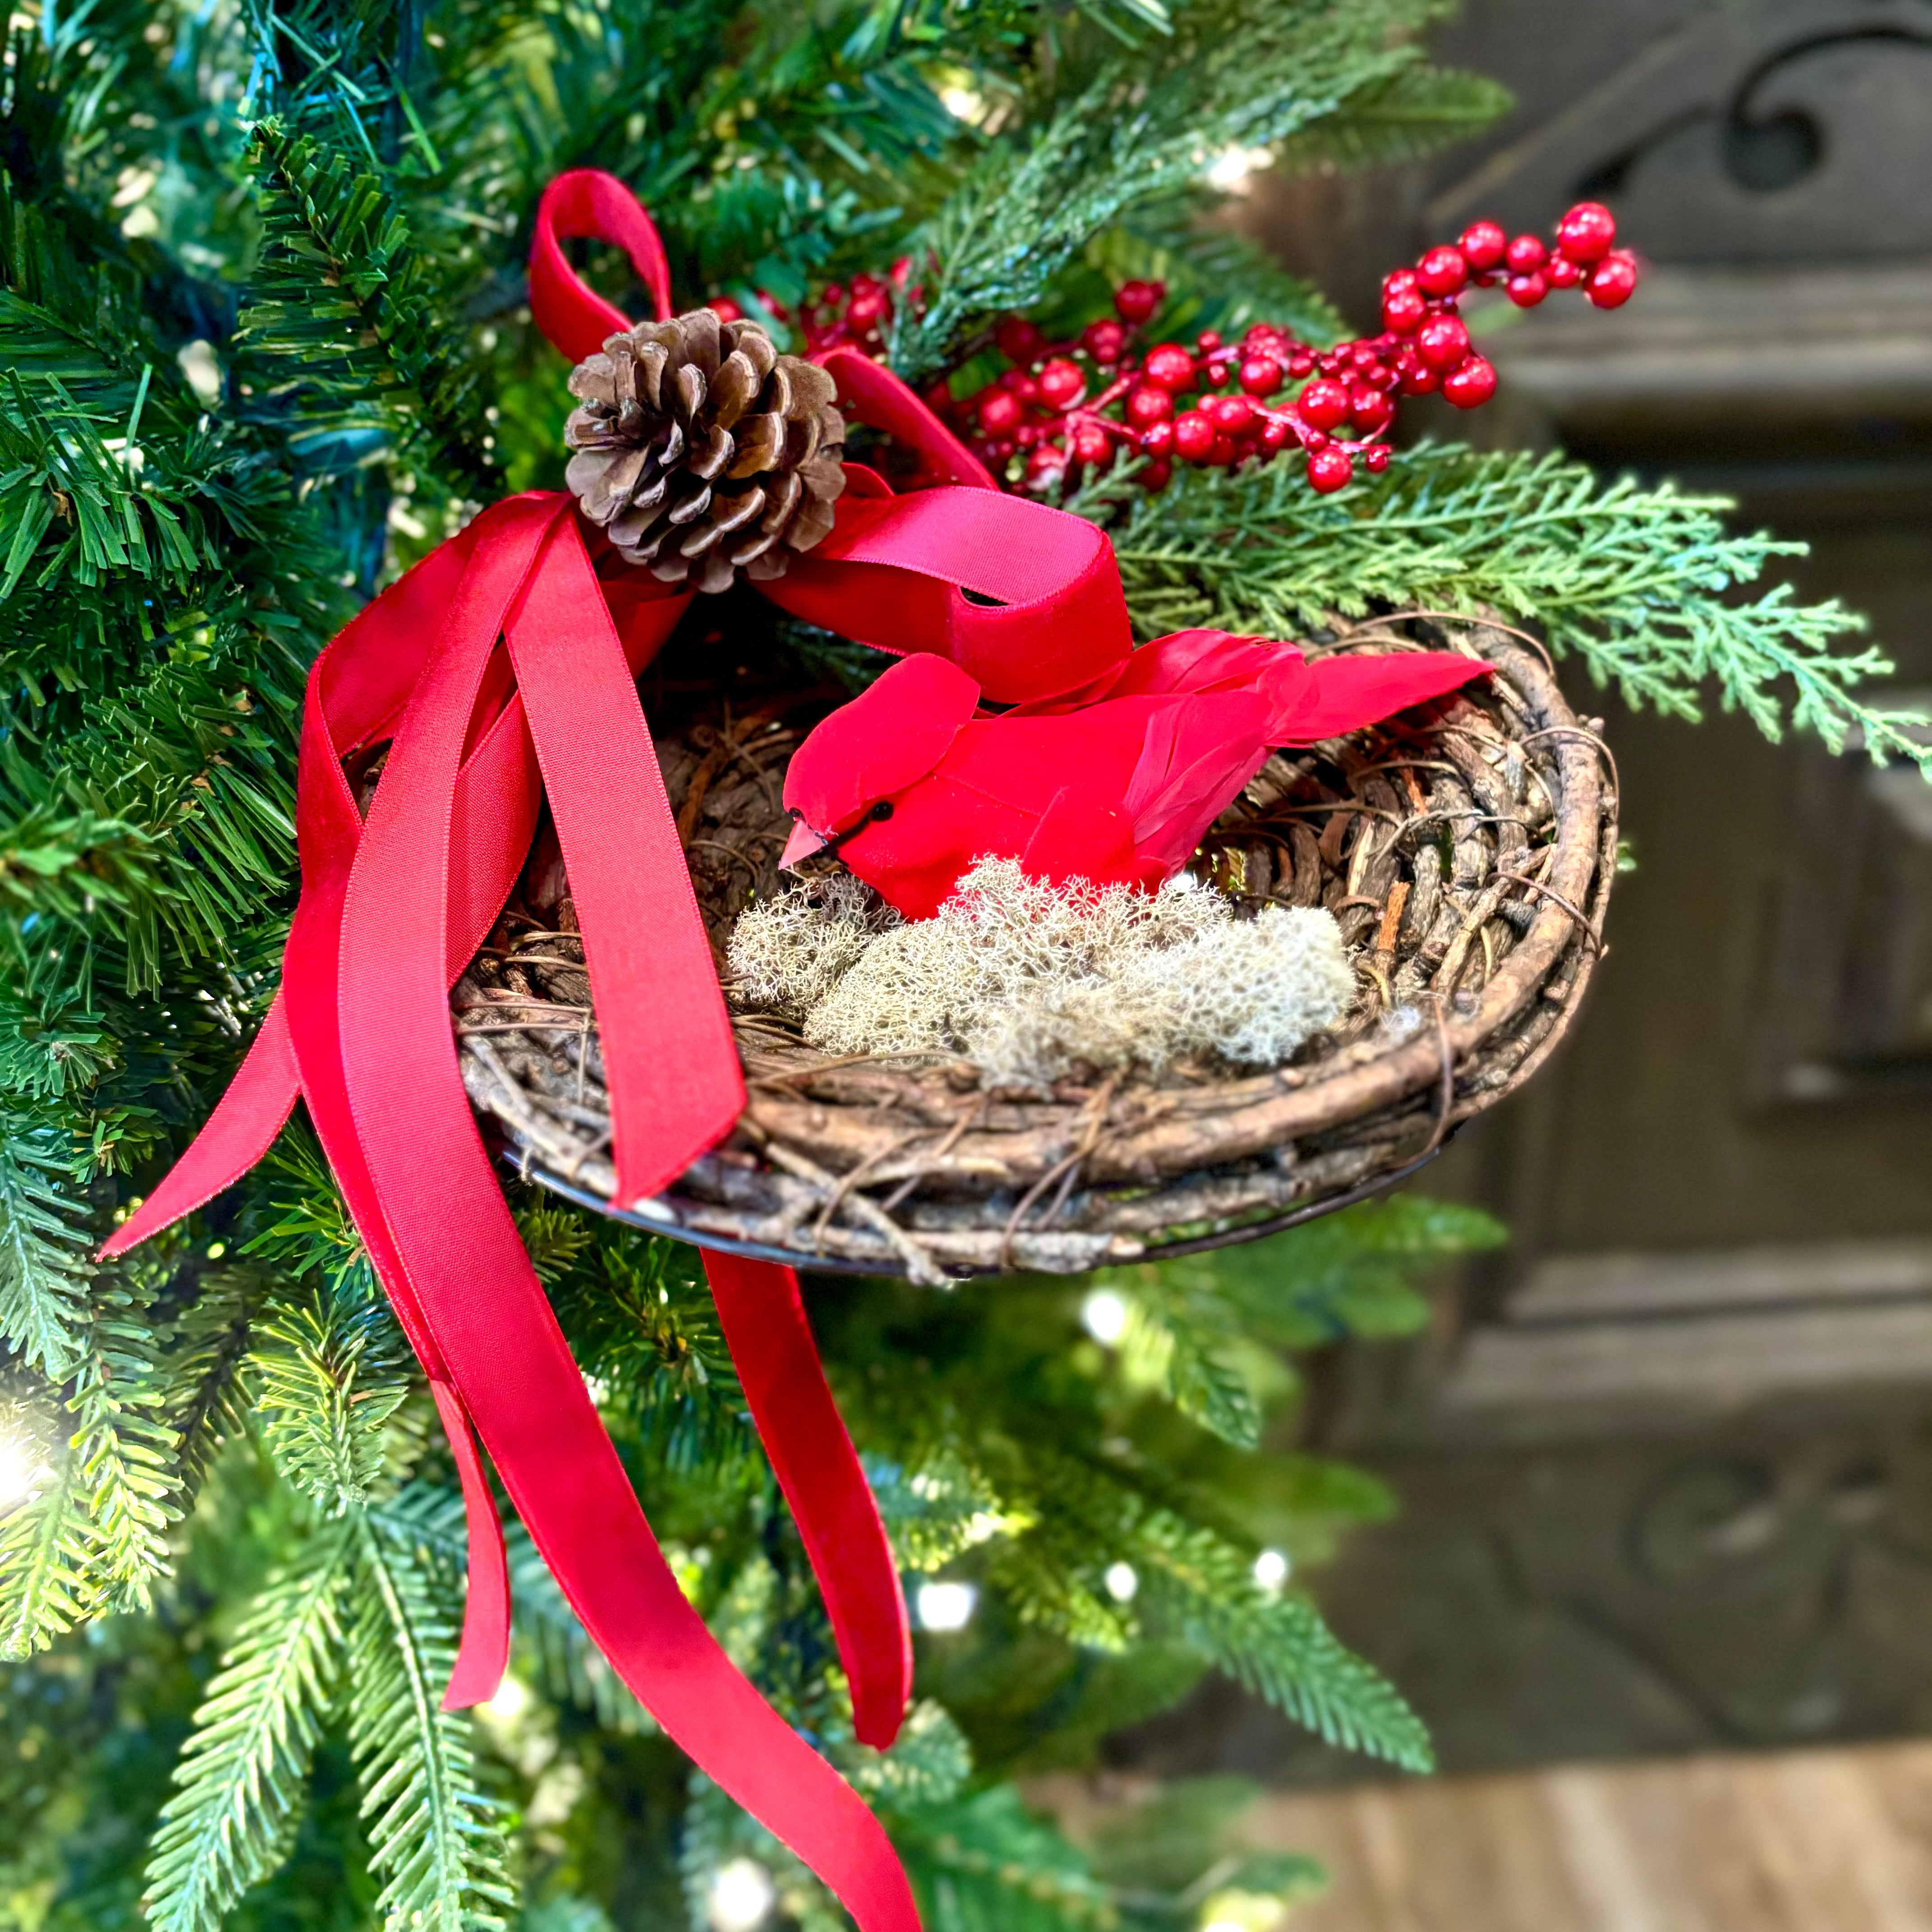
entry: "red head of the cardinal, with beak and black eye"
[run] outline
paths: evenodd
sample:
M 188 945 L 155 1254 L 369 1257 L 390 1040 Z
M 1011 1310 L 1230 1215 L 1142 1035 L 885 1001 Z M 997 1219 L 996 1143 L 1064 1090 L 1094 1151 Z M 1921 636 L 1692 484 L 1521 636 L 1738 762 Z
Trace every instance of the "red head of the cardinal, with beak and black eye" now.
M 952 748 L 980 703 L 980 686 L 925 651 L 902 657 L 813 728 L 784 773 L 784 810 L 798 825 L 781 866 L 838 846 L 918 784 Z

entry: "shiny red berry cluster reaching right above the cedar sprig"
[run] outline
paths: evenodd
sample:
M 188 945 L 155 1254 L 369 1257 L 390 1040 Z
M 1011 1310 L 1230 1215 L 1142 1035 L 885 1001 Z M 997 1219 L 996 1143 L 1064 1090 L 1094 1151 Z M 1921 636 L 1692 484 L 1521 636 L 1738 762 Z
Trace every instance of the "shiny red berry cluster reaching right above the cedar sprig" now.
M 1457 315 L 1464 290 L 1503 282 L 1511 301 L 1528 307 L 1551 288 L 1582 288 L 1600 309 L 1615 309 L 1636 286 L 1634 259 L 1611 251 L 1615 234 L 1609 209 L 1594 201 L 1563 216 L 1555 247 L 1476 222 L 1453 247 L 1432 247 L 1381 284 L 1379 336 L 1329 350 L 1254 323 L 1240 342 L 1204 330 L 1192 348 L 1159 342 L 1136 352 L 1134 332 L 1167 292 L 1126 282 L 1115 315 L 1072 342 L 1047 342 L 1034 323 L 1007 317 L 993 340 L 1012 367 L 972 396 L 937 384 L 927 400 L 995 473 L 1018 460 L 1018 483 L 1030 491 L 1121 450 L 1146 458 L 1140 481 L 1161 489 L 1177 460 L 1231 468 L 1267 462 L 1289 444 L 1314 489 L 1337 491 L 1356 460 L 1370 471 L 1389 466 L 1379 439 L 1397 396 L 1441 392 L 1474 410 L 1495 394 L 1495 369 L 1470 348 Z M 1293 396 L 1291 384 L 1300 384 Z

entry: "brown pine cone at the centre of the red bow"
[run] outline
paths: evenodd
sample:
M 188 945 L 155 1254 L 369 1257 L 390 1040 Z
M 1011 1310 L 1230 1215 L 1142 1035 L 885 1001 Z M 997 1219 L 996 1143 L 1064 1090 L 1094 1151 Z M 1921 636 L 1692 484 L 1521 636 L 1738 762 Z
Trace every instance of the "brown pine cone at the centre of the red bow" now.
M 694 309 L 611 336 L 570 371 L 566 479 L 583 514 L 665 583 L 777 578 L 833 527 L 844 417 L 817 363 L 757 323 Z

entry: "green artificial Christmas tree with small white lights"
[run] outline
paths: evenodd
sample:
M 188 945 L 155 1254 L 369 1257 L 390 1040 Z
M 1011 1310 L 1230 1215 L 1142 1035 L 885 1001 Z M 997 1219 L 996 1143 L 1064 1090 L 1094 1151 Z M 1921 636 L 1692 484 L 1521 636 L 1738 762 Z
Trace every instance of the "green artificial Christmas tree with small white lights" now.
M 1165 286 L 1165 334 L 1267 319 L 1335 342 L 1320 294 L 1215 218 L 1209 170 L 1231 151 L 1360 164 L 1495 114 L 1495 87 L 1430 66 L 1435 12 L 15 10 L 0 1920 L 840 1922 L 690 1776 L 514 1528 L 514 1675 L 481 1716 L 440 1712 L 462 1501 L 305 1126 L 166 1240 L 91 1256 L 274 989 L 307 665 L 481 504 L 562 477 L 566 365 L 522 269 L 553 176 L 630 184 L 680 298 L 804 348 L 838 288 L 900 375 L 951 398 L 999 367 L 1005 317 L 1078 334 L 1122 282 Z M 622 296 L 614 253 L 587 269 Z M 1490 607 L 1633 701 L 1694 717 L 1716 684 L 1774 736 L 1920 755 L 1859 697 L 1886 665 L 1839 647 L 1847 612 L 1760 587 L 1791 547 L 1729 533 L 1716 500 L 1441 444 L 1321 495 L 1287 464 L 1150 489 L 1132 456 L 1034 481 L 1113 533 L 1142 634 Z M 854 670 L 838 639 L 781 645 Z M 1088 1762 L 1208 1669 L 1428 1764 L 1416 1718 L 1293 1577 L 1387 1499 L 1283 1447 L 1283 1350 L 1412 1325 L 1408 1277 L 1493 1240 L 1482 1217 L 1393 1202 L 1072 1285 L 817 1287 L 925 1625 L 920 1702 L 875 1752 L 690 1250 L 531 1188 L 514 1204 L 688 1594 L 887 1820 L 931 1926 L 1265 1922 L 1308 1872 L 1227 1851 L 1238 1791 L 1182 1787 L 1132 1841 L 1078 1849 L 1012 1785 Z

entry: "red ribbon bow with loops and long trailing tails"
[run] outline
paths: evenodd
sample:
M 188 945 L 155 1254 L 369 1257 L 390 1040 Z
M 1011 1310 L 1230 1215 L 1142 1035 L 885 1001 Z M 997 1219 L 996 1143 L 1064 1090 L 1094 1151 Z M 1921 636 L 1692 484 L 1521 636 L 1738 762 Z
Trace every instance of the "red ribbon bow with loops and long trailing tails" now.
M 630 253 L 670 315 L 651 218 L 607 174 L 537 211 L 531 309 L 572 359 L 628 321 L 560 238 Z M 848 466 L 831 535 L 759 585 L 891 653 L 937 651 L 995 701 L 1070 690 L 1130 649 L 1113 551 L 1003 495 L 887 369 L 825 355 L 864 421 L 945 481 L 893 495 Z M 970 595 L 968 595 L 970 593 Z M 303 1099 L 450 1435 L 469 1520 L 446 1708 L 508 1660 L 502 1528 L 477 1437 L 593 1642 L 690 1758 L 790 1845 L 862 1932 L 918 1932 L 906 1876 L 856 1793 L 730 1663 L 665 1563 L 583 1389 L 464 1095 L 448 989 L 489 935 L 547 796 L 597 1010 L 618 1196 L 647 1200 L 717 1146 L 744 1074 L 636 678 L 690 603 L 601 582 L 568 497 L 485 510 L 317 657 L 298 759 L 301 898 L 282 985 L 193 1146 L 102 1248 L 122 1254 L 253 1167 Z M 383 742 L 367 823 L 344 759 Z M 910 1694 L 904 1596 L 788 1267 L 707 1254 L 719 1320 L 798 1520 L 852 1681 L 858 1735 Z

